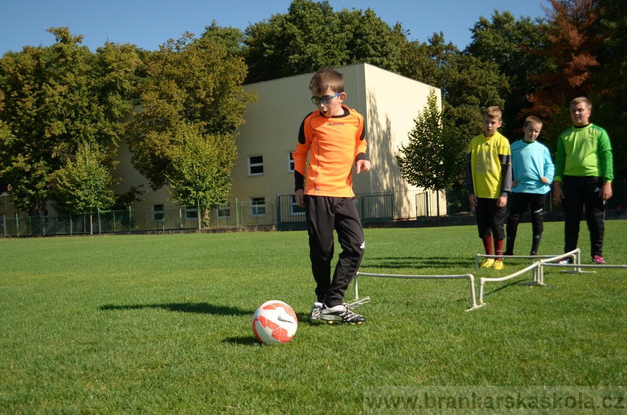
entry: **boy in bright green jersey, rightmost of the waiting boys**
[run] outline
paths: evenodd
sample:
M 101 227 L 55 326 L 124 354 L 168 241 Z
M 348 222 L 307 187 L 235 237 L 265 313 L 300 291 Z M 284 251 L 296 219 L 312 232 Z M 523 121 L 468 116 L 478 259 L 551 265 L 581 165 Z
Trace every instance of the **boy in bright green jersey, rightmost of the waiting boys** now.
M 589 122 L 592 103 L 585 97 L 575 98 L 569 105 L 571 128 L 557 140 L 555 155 L 556 201 L 564 205 L 564 253 L 577 248 L 579 219 L 586 207 L 586 223 L 590 231 L 590 254 L 593 263 L 604 264 L 604 203 L 612 197 L 614 179 L 612 146 L 608 133 Z M 570 263 L 566 258 L 561 263 Z

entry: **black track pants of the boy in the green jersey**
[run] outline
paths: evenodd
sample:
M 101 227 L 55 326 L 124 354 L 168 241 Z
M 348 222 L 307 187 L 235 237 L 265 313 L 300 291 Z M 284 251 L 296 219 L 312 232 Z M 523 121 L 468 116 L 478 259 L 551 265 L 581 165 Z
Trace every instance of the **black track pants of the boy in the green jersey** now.
M 586 208 L 586 223 L 590 231 L 591 256 L 603 255 L 603 233 L 605 210 L 599 192 L 603 186 L 601 177 L 564 176 L 562 191 L 564 192 L 564 252 L 577 248 L 579 239 L 579 221 Z

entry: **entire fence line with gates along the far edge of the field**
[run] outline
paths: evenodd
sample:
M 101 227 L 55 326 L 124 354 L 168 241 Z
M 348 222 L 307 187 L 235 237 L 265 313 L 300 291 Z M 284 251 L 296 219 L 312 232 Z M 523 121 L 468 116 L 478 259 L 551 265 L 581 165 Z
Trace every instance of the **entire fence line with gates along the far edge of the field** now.
M 562 205 L 554 201 L 552 191 L 546 197 L 546 212 L 563 211 Z M 462 187 L 448 191 L 356 194 L 355 203 L 362 222 L 473 214 L 468 192 Z M 609 199 L 607 207 L 627 208 L 626 176 L 614 180 L 613 197 Z M 298 207 L 294 194 L 277 195 L 276 201 L 260 198 L 231 206 L 164 208 L 163 204 L 155 204 L 152 209 L 66 213 L 56 216 L 3 215 L 1 219 L 1 235 L 4 238 L 273 225 L 281 231 L 307 229 L 305 209 Z

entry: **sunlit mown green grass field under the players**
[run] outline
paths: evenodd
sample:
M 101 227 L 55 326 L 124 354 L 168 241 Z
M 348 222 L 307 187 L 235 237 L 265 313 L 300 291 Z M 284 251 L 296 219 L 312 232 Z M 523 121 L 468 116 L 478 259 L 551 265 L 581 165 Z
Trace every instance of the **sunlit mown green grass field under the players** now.
M 520 225 L 517 253 L 530 233 Z M 627 221 L 606 222 L 609 263 L 627 263 L 625 234 Z M 562 223 L 545 224 L 540 254 L 562 239 Z M 366 229 L 366 245 L 372 273 L 478 280 L 529 263 L 475 273 L 475 226 Z M 305 232 L 4 239 L 0 252 L 3 414 L 352 414 L 369 386 L 627 385 L 625 270 L 491 283 L 473 312 L 466 280 L 364 277 L 368 321 L 328 325 L 307 318 Z M 287 345 L 255 340 L 266 300 L 297 312 Z

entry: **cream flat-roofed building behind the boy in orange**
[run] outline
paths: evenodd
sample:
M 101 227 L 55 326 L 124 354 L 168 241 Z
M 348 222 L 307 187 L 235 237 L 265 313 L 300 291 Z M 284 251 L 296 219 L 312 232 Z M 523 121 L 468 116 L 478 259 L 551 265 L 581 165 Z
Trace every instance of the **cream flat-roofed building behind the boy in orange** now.
M 441 105 L 440 90 L 367 63 L 337 70 L 345 76 L 347 98 L 344 104 L 364 116 L 368 142 L 366 155 L 372 162 L 370 172 L 353 173 L 354 192 L 358 196 L 393 192 L 394 217 L 415 218 L 416 194 L 420 189 L 409 185 L 401 177 L 395 155 L 401 143 L 408 142 L 414 118 L 427 105 L 429 90 L 435 89 L 438 104 Z M 231 172 L 232 206 L 237 201 L 269 207 L 273 203 L 271 201 L 277 200 L 277 195 L 293 194 L 294 173 L 290 153 L 296 147 L 300 124 L 308 113 L 316 109 L 308 90 L 312 75 L 305 73 L 244 86 L 246 90 L 256 91 L 258 102 L 248 105 L 244 113 L 246 122 L 238 129 L 238 159 Z M 135 108 L 135 111 L 138 110 L 139 106 Z M 121 121 L 127 122 L 131 116 L 129 114 Z M 122 181 L 115 190 L 125 192 L 130 186 L 142 184 L 143 189 L 148 190 L 142 196 L 145 201 L 133 204 L 132 208 L 151 211 L 160 205 L 166 209 L 178 206 L 176 201 L 168 200 L 171 196 L 165 188 L 152 191 L 147 179 L 132 167 L 130 158 L 129 148 L 122 142 L 116 157 L 120 163 L 114 171 L 115 176 L 122 177 Z M 6 212 L 7 216 L 11 216 L 14 209 L 10 206 L 10 197 L 3 199 L 5 203 L 0 206 L 3 211 L 0 214 Z M 440 214 L 446 214 L 445 199 L 442 199 L 440 207 Z M 232 217 L 232 210 L 230 214 L 225 214 Z M 419 215 L 420 210 L 419 207 Z M 49 212 L 53 214 L 50 207 Z M 240 215 L 254 216 L 254 213 L 255 208 L 249 206 Z M 271 214 L 270 210 L 266 214 Z M 433 208 L 431 214 L 435 214 Z

